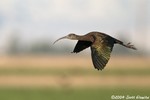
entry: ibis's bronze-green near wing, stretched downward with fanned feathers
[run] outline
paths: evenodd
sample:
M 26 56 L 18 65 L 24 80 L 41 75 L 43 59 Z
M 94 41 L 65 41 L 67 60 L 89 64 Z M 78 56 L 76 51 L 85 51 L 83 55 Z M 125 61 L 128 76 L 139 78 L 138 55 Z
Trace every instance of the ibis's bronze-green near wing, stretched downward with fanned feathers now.
M 96 69 L 102 70 L 108 63 L 114 43 L 109 40 L 96 41 L 91 46 L 92 62 Z

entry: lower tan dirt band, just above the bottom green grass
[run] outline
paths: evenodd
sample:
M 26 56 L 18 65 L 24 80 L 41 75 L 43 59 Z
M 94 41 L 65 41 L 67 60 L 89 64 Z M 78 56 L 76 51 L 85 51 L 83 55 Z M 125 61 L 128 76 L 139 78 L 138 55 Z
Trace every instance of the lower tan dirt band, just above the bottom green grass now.
M 0 76 L 3 87 L 150 87 L 150 76 Z

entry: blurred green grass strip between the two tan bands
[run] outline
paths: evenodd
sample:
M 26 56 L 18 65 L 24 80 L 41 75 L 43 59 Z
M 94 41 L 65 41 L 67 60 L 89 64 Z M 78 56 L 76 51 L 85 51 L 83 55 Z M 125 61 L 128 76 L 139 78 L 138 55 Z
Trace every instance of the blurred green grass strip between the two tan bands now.
M 1 68 L 0 75 L 135 75 L 135 76 L 149 76 L 150 68 L 147 69 L 105 69 L 97 71 L 95 69 L 83 68 L 68 68 L 68 69 L 36 69 L 36 68 Z

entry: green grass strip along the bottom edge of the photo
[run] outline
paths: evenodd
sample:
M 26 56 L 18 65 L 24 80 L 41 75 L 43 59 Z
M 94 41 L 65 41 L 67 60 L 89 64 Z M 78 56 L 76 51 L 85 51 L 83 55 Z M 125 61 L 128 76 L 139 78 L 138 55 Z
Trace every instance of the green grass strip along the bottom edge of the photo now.
M 136 88 L 0 88 L 0 100 L 111 100 L 112 95 L 150 96 L 150 89 Z M 122 99 L 125 100 L 125 99 Z

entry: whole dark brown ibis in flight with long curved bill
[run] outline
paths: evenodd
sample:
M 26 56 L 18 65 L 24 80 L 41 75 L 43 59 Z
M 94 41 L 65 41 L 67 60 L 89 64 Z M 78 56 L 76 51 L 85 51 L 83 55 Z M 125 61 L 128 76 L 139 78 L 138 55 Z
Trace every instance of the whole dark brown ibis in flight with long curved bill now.
M 90 47 L 92 62 L 94 68 L 97 70 L 103 70 L 108 63 L 114 44 L 120 44 L 124 47 L 136 50 L 134 45 L 130 42 L 124 44 L 122 41 L 102 32 L 89 32 L 85 35 L 70 33 L 67 36 L 57 39 L 53 44 L 61 39 L 78 40 L 72 53 L 79 53 L 80 51 Z

